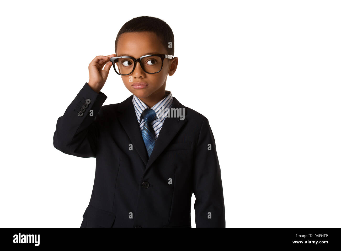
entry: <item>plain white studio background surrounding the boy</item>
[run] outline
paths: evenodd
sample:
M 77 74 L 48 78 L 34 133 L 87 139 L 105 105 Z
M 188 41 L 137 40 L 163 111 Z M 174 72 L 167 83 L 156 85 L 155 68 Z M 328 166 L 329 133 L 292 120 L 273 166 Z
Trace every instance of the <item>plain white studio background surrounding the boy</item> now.
M 1 5 L 1 227 L 80 226 L 95 158 L 54 148 L 56 122 L 91 60 L 144 15 L 175 36 L 166 90 L 211 125 L 226 227 L 341 226 L 339 1 Z M 131 95 L 113 69 L 102 92 L 104 105 Z

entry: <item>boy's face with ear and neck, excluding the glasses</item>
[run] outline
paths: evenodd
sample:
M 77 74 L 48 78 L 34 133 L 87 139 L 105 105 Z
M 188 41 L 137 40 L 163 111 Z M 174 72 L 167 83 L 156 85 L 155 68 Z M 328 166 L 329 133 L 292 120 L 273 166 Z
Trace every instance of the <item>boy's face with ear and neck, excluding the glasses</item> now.
M 168 54 L 154 32 L 127 32 L 119 36 L 117 41 L 116 56 L 130 56 L 139 58 L 149 54 Z M 136 62 L 134 71 L 130 75 L 121 76 L 125 87 L 141 100 L 165 97 L 167 75 L 174 74 L 177 58 L 164 59 L 160 72 L 148 74 L 144 72 L 139 62 Z M 176 61 L 176 62 L 175 62 Z M 143 82 L 142 89 L 136 89 L 133 84 Z

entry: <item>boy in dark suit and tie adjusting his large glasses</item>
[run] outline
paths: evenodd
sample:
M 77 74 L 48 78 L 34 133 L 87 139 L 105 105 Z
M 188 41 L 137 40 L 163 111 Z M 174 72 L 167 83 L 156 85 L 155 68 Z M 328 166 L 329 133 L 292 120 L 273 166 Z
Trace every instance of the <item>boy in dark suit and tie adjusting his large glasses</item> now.
M 193 192 L 196 227 L 225 227 L 208 120 L 165 90 L 178 64 L 172 29 L 159 18 L 133 18 L 118 32 L 115 51 L 89 64 L 89 82 L 58 118 L 53 138 L 64 153 L 96 158 L 80 227 L 191 227 Z M 112 65 L 133 95 L 102 106 Z

